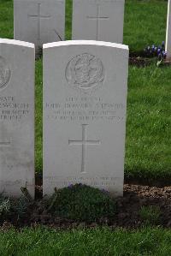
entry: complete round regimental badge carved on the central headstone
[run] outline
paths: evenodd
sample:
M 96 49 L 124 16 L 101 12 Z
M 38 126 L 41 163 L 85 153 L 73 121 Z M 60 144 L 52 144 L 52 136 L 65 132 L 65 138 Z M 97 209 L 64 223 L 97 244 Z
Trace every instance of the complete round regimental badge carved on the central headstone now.
M 104 68 L 101 60 L 89 53 L 74 57 L 67 65 L 66 79 L 70 86 L 82 92 L 91 92 L 102 86 Z

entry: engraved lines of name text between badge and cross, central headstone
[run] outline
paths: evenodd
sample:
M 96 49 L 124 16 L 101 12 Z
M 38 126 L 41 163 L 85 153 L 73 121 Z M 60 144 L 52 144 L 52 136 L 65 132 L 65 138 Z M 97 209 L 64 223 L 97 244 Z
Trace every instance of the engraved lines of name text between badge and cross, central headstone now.
M 106 103 L 103 98 L 77 97 L 65 98 L 64 102 L 46 103 L 47 118 L 61 121 L 110 121 L 119 122 L 124 119 L 125 105 L 122 103 Z

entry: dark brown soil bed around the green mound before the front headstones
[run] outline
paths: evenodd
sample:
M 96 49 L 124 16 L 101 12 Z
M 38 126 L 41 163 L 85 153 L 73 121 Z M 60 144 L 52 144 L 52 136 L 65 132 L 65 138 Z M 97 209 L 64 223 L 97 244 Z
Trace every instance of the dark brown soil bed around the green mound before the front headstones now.
M 42 188 L 37 186 L 37 190 Z M 72 220 L 53 217 L 49 212 L 44 211 L 41 199 L 30 205 L 27 214 L 22 219 L 11 216 L 5 222 L 1 222 L 1 229 L 9 229 L 15 226 L 17 229 L 24 226 L 36 227 L 44 224 L 55 229 L 70 229 L 76 227 L 96 227 L 97 225 L 109 225 L 110 227 L 123 227 L 136 229 L 144 225 L 144 220 L 139 215 L 142 206 L 156 206 L 160 210 L 160 221 L 158 226 L 171 227 L 171 186 L 156 188 L 142 185 L 124 185 L 124 195 L 117 198 L 117 212 L 113 218 L 100 219 L 97 223 L 77 223 Z

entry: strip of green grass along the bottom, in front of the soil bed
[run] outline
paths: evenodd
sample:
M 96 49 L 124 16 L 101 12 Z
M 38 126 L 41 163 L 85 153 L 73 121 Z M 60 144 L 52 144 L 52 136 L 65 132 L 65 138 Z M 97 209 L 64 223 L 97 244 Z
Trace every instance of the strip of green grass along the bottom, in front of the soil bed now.
M 22 229 L 0 232 L 0 254 L 6 255 L 115 255 L 168 256 L 171 252 L 169 229 L 124 230 L 108 228 Z

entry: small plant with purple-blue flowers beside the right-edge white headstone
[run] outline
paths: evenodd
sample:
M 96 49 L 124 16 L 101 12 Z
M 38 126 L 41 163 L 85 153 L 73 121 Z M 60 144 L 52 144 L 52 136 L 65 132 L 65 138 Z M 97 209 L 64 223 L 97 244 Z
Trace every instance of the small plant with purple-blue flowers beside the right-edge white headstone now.
M 144 55 L 145 57 L 157 57 L 158 61 L 156 65 L 159 66 L 167 56 L 164 41 L 162 42 L 162 45 L 149 45 L 146 48 L 144 48 Z

